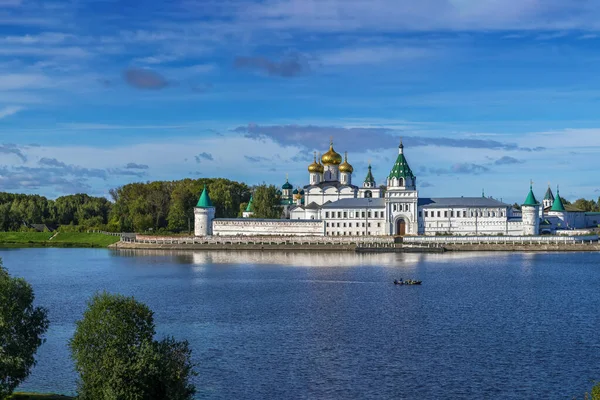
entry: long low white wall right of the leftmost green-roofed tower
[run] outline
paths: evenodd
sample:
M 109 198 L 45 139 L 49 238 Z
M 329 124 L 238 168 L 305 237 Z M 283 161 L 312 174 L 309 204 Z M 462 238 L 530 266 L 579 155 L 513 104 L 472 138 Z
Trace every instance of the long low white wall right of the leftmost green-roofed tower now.
M 213 220 L 217 236 L 324 236 L 321 220 L 222 218 Z

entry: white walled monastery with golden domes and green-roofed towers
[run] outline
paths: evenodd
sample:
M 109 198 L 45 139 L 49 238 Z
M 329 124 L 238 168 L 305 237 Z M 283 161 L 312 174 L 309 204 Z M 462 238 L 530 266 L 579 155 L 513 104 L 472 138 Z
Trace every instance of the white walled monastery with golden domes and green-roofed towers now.
M 405 235 L 539 235 L 597 227 L 599 213 L 565 207 L 557 190 L 548 188 L 542 203 L 530 186 L 521 209 L 492 197 L 420 197 L 400 141 L 386 185 L 377 186 L 371 165 L 365 179 L 353 183 L 354 168 L 333 141 L 308 165 L 308 184 L 282 186 L 282 219 L 252 218 L 252 200 L 244 218 L 214 218 L 205 189 L 195 212 L 196 236 L 405 236 Z

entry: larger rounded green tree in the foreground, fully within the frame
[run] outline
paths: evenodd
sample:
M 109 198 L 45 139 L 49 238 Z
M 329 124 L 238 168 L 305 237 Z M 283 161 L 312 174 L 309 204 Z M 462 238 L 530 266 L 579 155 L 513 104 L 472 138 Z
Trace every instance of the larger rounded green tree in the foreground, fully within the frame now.
M 69 346 L 83 400 L 187 400 L 195 389 L 188 343 L 160 342 L 152 311 L 132 297 L 96 294 Z

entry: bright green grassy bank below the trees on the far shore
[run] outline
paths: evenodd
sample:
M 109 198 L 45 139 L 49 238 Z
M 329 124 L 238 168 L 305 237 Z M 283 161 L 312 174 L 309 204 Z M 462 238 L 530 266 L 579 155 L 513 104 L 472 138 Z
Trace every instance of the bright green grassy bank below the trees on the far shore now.
M 0 232 L 0 247 L 108 247 L 119 239 L 101 233 Z

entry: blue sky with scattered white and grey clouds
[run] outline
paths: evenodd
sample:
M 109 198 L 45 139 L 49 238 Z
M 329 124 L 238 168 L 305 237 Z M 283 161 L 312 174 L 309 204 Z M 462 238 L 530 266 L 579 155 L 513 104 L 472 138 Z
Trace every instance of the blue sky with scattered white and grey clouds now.
M 597 199 L 597 0 L 0 0 L 0 191 L 308 184 Z

